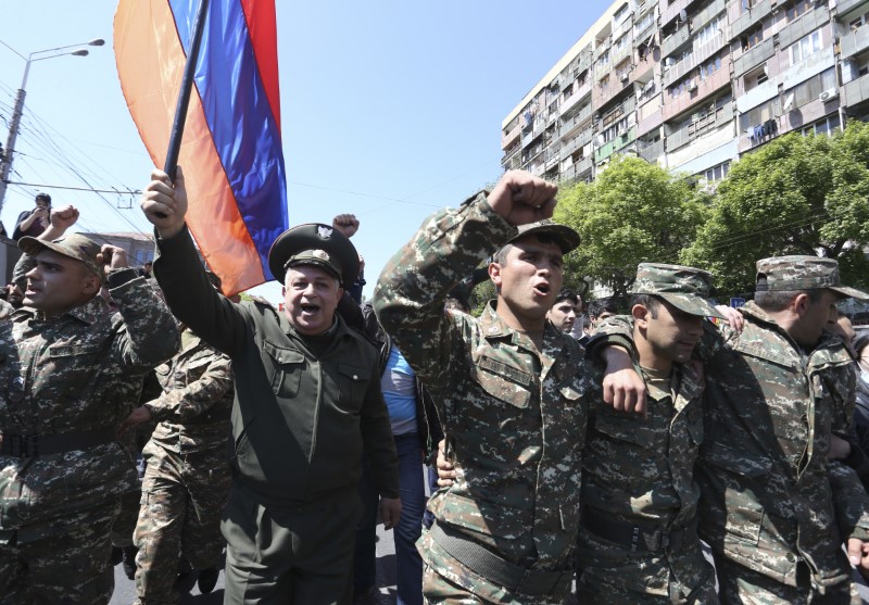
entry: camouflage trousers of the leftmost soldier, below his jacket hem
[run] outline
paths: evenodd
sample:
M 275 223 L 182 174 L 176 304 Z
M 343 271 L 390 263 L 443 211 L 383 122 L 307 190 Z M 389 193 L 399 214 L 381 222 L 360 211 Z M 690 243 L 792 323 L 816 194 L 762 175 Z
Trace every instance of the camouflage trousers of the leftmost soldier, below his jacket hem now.
M 104 605 L 116 500 L 17 531 L 0 530 L 0 604 Z

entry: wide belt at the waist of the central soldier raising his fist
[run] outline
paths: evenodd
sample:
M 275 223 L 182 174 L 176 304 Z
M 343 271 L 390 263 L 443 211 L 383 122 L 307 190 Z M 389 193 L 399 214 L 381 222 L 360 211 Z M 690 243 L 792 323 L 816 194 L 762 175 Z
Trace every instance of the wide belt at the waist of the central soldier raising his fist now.
M 480 544 L 453 534 L 449 527 L 444 530 L 437 521 L 429 533 L 455 560 L 511 592 L 527 595 L 552 594 L 558 589 L 564 592 L 574 578 L 574 569 L 540 571 L 504 560 Z

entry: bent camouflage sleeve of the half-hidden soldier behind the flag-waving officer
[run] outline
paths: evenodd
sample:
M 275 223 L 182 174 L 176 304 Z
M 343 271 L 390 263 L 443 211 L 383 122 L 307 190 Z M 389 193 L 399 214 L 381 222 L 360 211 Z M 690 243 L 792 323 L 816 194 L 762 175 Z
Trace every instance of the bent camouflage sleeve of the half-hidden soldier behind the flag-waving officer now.
M 164 391 L 158 399 L 148 402 L 151 414 L 158 421 L 182 423 L 199 416 L 221 401 L 232 387 L 232 366 L 229 357 L 215 352 L 202 376 L 182 389 Z

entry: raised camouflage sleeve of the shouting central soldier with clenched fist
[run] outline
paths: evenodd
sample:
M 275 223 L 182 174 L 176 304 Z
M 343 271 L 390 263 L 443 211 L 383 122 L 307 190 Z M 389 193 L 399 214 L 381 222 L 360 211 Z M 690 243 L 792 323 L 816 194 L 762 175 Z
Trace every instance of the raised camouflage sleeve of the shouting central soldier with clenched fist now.
M 452 323 L 444 302 L 450 289 L 516 232 L 480 193 L 458 210 L 428 218 L 387 263 L 374 307 L 424 382 L 440 383 L 449 371 Z

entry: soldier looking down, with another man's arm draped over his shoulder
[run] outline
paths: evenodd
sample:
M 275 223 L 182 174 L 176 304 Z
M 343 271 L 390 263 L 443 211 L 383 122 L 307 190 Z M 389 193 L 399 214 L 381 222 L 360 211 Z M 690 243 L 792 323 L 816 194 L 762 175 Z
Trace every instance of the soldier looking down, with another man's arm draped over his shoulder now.
M 718 602 L 697 535 L 703 382 L 685 363 L 703 317 L 719 316 L 705 300 L 710 287 L 711 276 L 692 267 L 638 267 L 632 340 L 648 409 L 640 416 L 592 408 L 577 545 L 580 603 Z

